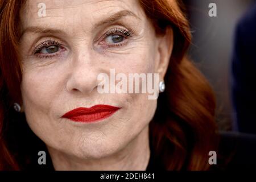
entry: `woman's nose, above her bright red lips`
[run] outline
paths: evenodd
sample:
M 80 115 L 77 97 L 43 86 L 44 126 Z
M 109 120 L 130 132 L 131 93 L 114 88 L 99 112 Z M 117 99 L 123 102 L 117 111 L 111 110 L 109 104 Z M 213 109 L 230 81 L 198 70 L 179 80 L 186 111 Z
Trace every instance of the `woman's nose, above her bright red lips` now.
M 97 60 L 89 52 L 80 53 L 72 57 L 70 69 L 71 74 L 67 80 L 66 88 L 71 93 L 89 94 L 97 89 Z

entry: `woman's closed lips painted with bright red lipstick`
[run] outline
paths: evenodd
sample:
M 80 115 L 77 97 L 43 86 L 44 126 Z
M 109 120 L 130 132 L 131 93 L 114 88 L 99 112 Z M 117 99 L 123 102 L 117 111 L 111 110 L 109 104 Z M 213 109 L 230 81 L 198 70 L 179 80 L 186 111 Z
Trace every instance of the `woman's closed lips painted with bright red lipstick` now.
M 110 117 L 114 114 L 120 107 L 110 106 L 110 105 L 94 105 L 92 107 L 79 107 L 68 111 L 61 118 L 68 118 L 74 122 L 96 122 L 102 119 Z

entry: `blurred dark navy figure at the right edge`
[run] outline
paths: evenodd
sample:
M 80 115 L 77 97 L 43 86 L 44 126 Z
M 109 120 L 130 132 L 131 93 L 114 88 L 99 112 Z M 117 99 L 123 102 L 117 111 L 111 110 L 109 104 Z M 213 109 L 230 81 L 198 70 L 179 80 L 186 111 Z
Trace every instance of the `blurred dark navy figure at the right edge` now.
M 233 129 L 256 134 L 256 4 L 238 22 L 234 38 Z

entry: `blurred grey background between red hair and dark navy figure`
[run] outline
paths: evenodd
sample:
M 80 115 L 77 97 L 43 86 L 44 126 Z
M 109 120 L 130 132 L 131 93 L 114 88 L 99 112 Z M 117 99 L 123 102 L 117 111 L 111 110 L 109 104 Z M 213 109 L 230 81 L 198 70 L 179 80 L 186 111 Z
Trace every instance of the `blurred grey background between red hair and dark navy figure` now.
M 230 62 L 234 28 L 253 0 L 183 0 L 192 29 L 189 56 L 212 84 L 217 97 L 217 123 L 220 130 L 232 130 L 233 110 L 230 91 Z M 208 7 L 216 3 L 217 16 Z

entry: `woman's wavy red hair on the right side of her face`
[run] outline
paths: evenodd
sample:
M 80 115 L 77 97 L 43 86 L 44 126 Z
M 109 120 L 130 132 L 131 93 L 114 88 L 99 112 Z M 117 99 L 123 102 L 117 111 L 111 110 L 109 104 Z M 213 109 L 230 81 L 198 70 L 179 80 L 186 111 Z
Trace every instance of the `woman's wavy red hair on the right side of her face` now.
M 208 81 L 187 59 L 191 33 L 179 3 L 141 0 L 158 34 L 168 26 L 174 30 L 174 49 L 164 77 L 166 91 L 159 94 L 150 123 L 152 146 L 166 169 L 205 170 L 209 151 L 217 150 L 216 101 Z

